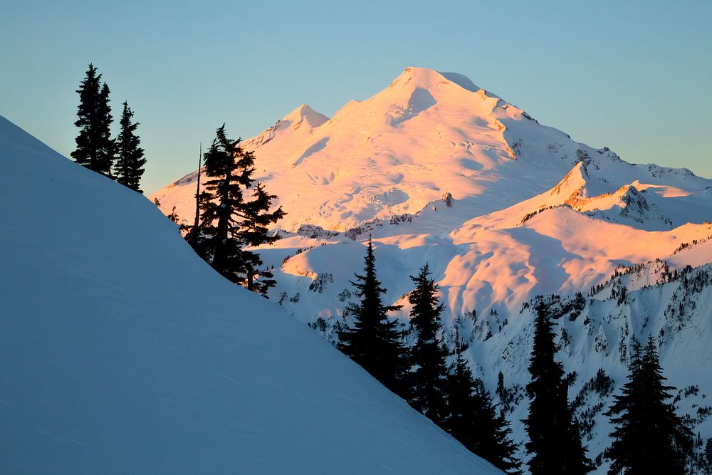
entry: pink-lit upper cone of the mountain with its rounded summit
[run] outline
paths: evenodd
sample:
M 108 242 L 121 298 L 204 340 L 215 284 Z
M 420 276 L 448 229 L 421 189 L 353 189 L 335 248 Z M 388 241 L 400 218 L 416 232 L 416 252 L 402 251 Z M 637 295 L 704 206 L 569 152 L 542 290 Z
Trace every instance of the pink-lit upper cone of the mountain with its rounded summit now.
M 256 153 L 258 179 L 287 212 L 286 231 L 304 224 L 347 231 L 417 214 L 446 193 L 472 217 L 544 192 L 583 156 L 607 172 L 629 167 L 609 150 L 540 125 L 464 75 L 424 68 L 406 68 L 330 119 L 302 105 L 243 145 Z M 639 171 L 647 181 L 666 174 Z M 153 197 L 190 221 L 192 179 Z M 689 183 L 704 184 L 696 177 Z

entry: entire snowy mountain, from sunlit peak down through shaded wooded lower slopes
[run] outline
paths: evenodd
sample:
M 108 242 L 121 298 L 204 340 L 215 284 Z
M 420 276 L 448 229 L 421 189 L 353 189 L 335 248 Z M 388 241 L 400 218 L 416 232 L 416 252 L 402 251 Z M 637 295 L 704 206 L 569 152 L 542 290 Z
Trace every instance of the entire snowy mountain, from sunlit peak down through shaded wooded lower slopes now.
M 671 382 L 699 385 L 681 410 L 695 412 L 712 395 L 708 371 L 694 370 L 712 362 L 712 291 L 703 277 L 689 287 L 710 272 L 712 180 L 629 164 L 463 75 L 421 68 L 333 118 L 302 105 L 243 145 L 288 213 L 284 239 L 261 249 L 276 268 L 271 297 L 325 338 L 345 323 L 349 281 L 372 235 L 388 303 L 407 304 L 407 276 L 429 263 L 447 307 L 445 338 L 456 329 L 465 336 L 491 390 L 501 371 L 512 397 L 523 397 L 531 301 L 557 294 L 552 305 L 567 310 L 560 357 L 577 372 L 572 398 L 600 369 L 619 387 L 631 338 L 650 334 L 661 339 Z M 153 197 L 192 222 L 194 179 Z M 610 393 L 579 400 L 597 421 L 596 456 L 608 444 L 599 405 Z M 524 409 L 513 404 L 510 417 L 520 442 Z M 706 417 L 694 427 L 712 436 Z

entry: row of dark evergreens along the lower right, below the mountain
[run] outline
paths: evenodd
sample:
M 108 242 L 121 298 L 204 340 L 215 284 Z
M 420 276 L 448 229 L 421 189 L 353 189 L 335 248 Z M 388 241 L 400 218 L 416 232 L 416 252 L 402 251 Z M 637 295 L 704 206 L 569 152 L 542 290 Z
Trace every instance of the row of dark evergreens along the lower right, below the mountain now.
M 449 350 L 439 338 L 444 305 L 430 275 L 425 264 L 411 276 L 414 289 L 407 298 L 415 340 L 407 347 L 404 332 L 388 317 L 402 306 L 382 301 L 386 290 L 377 278 L 369 240 L 364 271 L 352 281 L 358 301 L 345 312 L 352 316 L 352 325 L 337 332 L 337 348 L 469 450 L 509 474 L 521 473 L 509 422 L 483 382 L 473 377 L 459 341 L 454 358 L 447 362 Z M 525 388 L 530 401 L 523 419 L 528 436 L 526 465 L 532 475 L 583 475 L 595 465 L 587 457 L 568 401 L 570 379 L 555 359 L 552 318 L 553 311 L 540 301 L 535 307 L 530 382 Z M 650 338 L 644 348 L 634 342 L 622 394 L 614 396 L 604 413 L 614 427 L 612 444 L 604 451 L 611 461 L 609 474 L 685 473 L 692 434 L 668 402 L 674 388 L 664 381 L 655 340 Z

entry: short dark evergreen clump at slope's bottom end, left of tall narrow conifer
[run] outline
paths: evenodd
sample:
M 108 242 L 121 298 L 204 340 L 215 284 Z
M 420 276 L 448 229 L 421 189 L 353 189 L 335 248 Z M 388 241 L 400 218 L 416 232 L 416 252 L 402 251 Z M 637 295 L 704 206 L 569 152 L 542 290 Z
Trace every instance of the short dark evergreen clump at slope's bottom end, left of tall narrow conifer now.
M 509 423 L 492 404 L 482 381 L 473 379 L 460 351 L 447 379 L 446 394 L 449 416 L 444 429 L 498 469 L 520 473 L 520 462 L 514 456 L 516 446 L 509 438 Z

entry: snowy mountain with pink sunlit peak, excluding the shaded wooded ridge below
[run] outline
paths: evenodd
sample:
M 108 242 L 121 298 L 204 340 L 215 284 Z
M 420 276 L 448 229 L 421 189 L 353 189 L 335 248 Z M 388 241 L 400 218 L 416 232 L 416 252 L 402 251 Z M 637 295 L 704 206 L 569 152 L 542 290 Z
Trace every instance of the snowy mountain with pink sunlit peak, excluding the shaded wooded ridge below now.
M 263 251 L 283 273 L 278 293 L 335 280 L 293 309 L 307 321 L 342 308 L 336 297 L 360 267 L 352 244 L 369 234 L 392 261 L 393 298 L 408 290 L 402 276 L 429 261 L 451 317 L 588 291 L 619 265 L 712 234 L 712 180 L 574 142 L 456 73 L 407 68 L 331 119 L 302 105 L 243 145 L 287 212 L 286 239 Z M 195 175 L 153 195 L 187 222 Z M 318 244 L 336 247 L 286 259 Z

